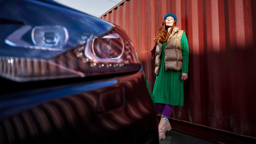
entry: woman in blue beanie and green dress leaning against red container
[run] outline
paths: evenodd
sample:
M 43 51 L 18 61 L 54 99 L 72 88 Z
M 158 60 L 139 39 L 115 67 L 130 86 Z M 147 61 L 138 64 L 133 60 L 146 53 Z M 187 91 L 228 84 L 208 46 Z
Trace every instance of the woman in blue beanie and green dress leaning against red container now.
M 161 116 L 158 125 L 159 140 L 172 127 L 168 121 L 172 106 L 183 106 L 183 82 L 188 78 L 188 40 L 185 31 L 176 27 L 173 13 L 164 17 L 156 34 L 156 82 L 153 99 Z

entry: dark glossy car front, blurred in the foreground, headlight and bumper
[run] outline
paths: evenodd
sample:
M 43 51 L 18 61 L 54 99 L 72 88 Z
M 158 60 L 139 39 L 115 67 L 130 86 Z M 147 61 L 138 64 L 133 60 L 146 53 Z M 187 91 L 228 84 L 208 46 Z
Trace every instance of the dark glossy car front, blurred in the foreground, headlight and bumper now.
M 0 0 L 0 143 L 158 143 L 125 31 L 50 0 Z

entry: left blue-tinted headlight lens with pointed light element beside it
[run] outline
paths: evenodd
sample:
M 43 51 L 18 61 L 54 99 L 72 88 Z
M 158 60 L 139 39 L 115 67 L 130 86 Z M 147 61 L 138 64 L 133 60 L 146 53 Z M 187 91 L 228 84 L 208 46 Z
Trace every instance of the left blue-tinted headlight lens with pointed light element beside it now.
M 34 48 L 50 51 L 61 51 L 68 42 L 68 30 L 62 26 L 36 26 L 32 29 L 29 44 L 22 37 L 31 30 L 32 27 L 25 25 L 14 31 L 5 39 L 5 43 L 15 47 Z

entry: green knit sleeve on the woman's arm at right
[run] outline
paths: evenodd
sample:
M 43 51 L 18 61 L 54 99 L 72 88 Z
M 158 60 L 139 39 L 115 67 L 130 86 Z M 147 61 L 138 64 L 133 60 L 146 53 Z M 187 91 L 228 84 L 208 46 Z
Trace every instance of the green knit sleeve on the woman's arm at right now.
M 182 58 L 183 58 L 181 73 L 188 74 L 188 39 L 184 32 L 181 36 L 180 41 L 181 41 L 180 44 L 181 44 L 181 51 L 182 51 Z

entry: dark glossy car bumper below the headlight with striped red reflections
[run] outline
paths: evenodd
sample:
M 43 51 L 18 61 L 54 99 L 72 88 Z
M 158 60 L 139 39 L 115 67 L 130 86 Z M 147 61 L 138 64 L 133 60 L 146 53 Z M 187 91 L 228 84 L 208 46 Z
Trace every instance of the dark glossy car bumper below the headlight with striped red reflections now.
M 142 70 L 1 99 L 1 143 L 158 143 Z

